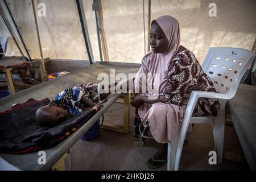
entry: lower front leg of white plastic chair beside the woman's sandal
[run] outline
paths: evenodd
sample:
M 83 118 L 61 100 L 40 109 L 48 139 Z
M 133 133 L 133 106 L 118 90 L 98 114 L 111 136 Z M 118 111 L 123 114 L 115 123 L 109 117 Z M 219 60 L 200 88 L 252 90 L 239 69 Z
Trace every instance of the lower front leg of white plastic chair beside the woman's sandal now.
M 171 142 L 168 142 L 168 153 L 167 153 L 167 170 L 174 171 L 175 159 L 177 151 L 177 142 L 179 140 L 179 132 L 172 137 Z

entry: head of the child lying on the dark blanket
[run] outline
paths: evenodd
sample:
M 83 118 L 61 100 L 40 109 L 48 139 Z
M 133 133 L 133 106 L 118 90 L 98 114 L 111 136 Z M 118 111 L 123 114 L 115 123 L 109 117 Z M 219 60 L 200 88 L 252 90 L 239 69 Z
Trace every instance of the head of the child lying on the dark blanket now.
M 44 127 L 52 127 L 68 118 L 68 112 L 61 106 L 55 104 L 40 107 L 36 110 L 36 122 Z

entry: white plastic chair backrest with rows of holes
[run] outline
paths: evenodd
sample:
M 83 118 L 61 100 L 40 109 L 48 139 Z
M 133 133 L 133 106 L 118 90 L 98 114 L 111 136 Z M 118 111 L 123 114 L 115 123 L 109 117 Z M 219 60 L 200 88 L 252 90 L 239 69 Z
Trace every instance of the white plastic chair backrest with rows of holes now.
M 240 48 L 213 47 L 202 64 L 218 93 L 236 94 L 238 85 L 255 55 Z

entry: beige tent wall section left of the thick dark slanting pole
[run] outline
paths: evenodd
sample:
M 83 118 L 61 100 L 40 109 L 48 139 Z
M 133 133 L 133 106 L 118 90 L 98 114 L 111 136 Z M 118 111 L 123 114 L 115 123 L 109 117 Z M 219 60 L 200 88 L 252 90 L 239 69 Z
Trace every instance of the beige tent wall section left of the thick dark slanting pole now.
M 38 17 L 44 57 L 51 59 L 88 59 L 75 1 L 43 0 L 46 17 Z M 35 20 L 30 0 L 7 0 L 31 58 L 40 57 Z

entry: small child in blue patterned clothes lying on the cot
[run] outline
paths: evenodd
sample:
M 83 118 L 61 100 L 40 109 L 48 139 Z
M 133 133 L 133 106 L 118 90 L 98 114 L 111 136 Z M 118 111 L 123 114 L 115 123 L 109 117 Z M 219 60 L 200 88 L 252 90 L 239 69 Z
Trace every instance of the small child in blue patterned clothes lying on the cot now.
M 108 93 L 100 94 L 98 84 L 91 82 L 69 87 L 57 94 L 49 105 L 36 110 L 36 122 L 43 127 L 52 127 L 81 111 L 98 111 L 107 96 Z

